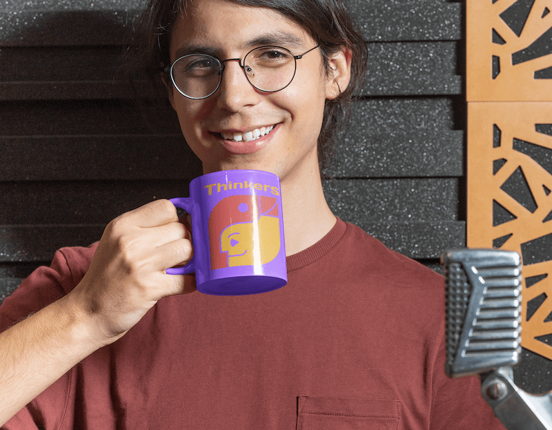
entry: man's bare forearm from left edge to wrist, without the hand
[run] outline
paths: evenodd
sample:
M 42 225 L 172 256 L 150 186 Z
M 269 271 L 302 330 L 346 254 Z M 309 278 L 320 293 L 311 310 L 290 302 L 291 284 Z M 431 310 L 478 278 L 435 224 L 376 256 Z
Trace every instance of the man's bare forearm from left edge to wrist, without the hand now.
M 67 297 L 0 333 L 0 426 L 100 346 Z

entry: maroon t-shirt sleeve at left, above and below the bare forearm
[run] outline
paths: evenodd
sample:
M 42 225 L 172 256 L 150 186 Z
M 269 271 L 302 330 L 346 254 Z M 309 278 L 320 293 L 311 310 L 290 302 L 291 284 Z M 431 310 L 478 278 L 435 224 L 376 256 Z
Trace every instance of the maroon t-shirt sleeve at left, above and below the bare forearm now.
M 95 246 L 62 248 L 49 267 L 37 268 L 0 306 L 0 331 L 59 300 L 80 282 Z M 21 409 L 2 430 L 59 429 L 70 395 L 71 371 Z

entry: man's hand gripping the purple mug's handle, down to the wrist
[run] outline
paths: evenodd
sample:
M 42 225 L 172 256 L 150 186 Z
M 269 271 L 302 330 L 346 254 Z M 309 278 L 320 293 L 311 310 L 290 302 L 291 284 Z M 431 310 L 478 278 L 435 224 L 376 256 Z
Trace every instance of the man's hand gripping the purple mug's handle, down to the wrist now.
M 161 297 L 195 291 L 195 275 L 165 273 L 192 253 L 175 206 L 157 200 L 108 224 L 88 272 L 66 298 L 90 322 L 96 342 L 115 342 Z

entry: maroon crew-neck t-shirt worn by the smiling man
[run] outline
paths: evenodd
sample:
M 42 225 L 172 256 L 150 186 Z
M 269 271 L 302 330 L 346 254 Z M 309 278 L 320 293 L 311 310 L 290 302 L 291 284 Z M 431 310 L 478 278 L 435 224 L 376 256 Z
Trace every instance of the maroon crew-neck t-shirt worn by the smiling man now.
M 58 251 L 0 330 L 74 288 L 94 251 Z M 282 289 L 165 297 L 2 429 L 504 429 L 444 360 L 442 277 L 338 220 L 288 257 Z

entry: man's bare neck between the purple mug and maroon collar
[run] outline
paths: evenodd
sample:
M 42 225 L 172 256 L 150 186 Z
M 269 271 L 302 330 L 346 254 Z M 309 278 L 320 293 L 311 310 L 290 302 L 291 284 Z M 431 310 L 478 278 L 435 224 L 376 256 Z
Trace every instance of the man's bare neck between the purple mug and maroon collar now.
M 313 246 L 337 221 L 324 197 L 318 166 L 298 179 L 286 178 L 281 184 L 286 255 Z

